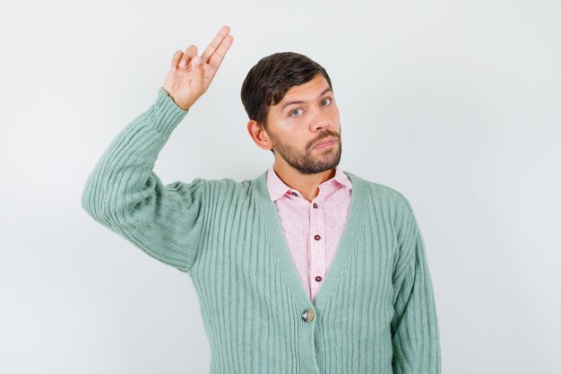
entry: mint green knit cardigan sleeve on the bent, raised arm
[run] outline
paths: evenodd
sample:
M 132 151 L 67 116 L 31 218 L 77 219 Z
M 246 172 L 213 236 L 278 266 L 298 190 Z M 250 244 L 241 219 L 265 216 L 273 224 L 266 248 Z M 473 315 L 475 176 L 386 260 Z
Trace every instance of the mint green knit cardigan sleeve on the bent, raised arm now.
M 193 265 L 201 236 L 204 180 L 164 186 L 153 167 L 187 111 L 160 88 L 108 146 L 82 191 L 82 208 L 94 220 L 182 272 Z

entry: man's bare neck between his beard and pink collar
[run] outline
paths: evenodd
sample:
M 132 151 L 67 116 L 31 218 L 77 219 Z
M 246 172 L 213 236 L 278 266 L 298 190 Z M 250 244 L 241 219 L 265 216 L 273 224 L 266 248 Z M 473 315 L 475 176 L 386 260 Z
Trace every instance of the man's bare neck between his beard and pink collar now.
M 314 200 L 315 196 L 319 194 L 319 185 L 335 175 L 334 168 L 321 173 L 302 174 L 288 163 L 279 160 L 275 160 L 273 169 L 285 185 L 300 191 L 307 201 Z

